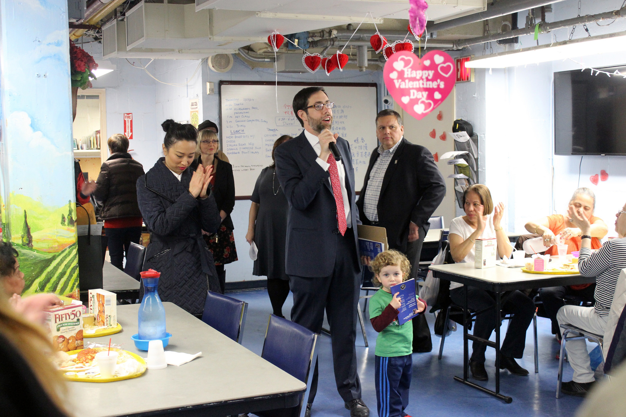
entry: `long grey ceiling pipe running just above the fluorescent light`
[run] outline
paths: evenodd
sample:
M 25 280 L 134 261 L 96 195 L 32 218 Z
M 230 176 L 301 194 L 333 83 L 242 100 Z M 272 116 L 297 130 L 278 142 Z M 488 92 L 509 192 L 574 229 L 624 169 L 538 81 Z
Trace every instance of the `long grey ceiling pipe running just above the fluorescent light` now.
M 555 29 L 570 28 L 571 26 L 575 26 L 579 24 L 593 23 L 593 22 L 599 22 L 603 20 L 612 20 L 612 19 L 618 19 L 618 18 L 626 18 L 626 7 L 619 9 L 619 10 L 613 10 L 610 12 L 587 15 L 587 16 L 580 16 L 580 18 L 565 19 L 565 20 L 558 21 L 558 22 L 551 22 L 551 23 L 540 22 L 539 33 L 549 33 L 550 31 L 553 31 Z M 481 36 L 480 38 L 472 38 L 472 39 L 464 39 L 462 41 L 454 41 L 454 49 L 462 49 L 462 48 L 466 48 L 467 46 L 473 46 L 473 45 L 483 44 L 487 42 L 495 42 L 495 41 L 500 41 L 500 39 L 515 38 L 515 36 L 526 36 L 526 35 L 531 35 L 531 34 L 535 34 L 535 28 L 515 29 L 513 31 L 496 33 L 490 36 Z

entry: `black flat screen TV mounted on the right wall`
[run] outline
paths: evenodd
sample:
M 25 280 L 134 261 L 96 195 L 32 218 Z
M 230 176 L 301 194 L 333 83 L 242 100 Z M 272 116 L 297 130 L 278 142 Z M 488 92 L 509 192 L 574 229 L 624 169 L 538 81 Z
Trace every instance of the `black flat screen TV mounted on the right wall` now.
M 590 72 L 554 73 L 555 154 L 626 155 L 626 78 Z

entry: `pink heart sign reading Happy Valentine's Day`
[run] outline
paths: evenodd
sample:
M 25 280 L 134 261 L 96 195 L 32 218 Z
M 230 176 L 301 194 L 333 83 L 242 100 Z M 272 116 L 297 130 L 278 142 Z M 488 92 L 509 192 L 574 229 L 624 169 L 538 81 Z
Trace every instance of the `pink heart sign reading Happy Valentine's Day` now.
M 399 51 L 387 60 L 383 78 L 396 103 L 421 120 L 452 91 L 456 82 L 454 59 L 443 51 L 430 51 L 422 59 Z

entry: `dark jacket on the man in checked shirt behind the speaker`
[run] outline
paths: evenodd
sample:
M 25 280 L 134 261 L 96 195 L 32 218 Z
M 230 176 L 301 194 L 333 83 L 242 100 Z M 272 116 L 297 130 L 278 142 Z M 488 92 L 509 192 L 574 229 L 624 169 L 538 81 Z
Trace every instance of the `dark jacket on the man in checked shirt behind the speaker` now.
M 369 158 L 361 195 L 356 203 L 363 224 L 371 224 L 363 211 L 363 203 L 369 173 L 379 156 L 376 149 Z M 446 183 L 430 151 L 401 139 L 382 179 L 377 206 L 379 224 L 376 226 L 387 229 L 389 248 L 406 252 L 411 221 L 422 229 L 425 236 L 430 226 L 428 219 L 445 195 Z

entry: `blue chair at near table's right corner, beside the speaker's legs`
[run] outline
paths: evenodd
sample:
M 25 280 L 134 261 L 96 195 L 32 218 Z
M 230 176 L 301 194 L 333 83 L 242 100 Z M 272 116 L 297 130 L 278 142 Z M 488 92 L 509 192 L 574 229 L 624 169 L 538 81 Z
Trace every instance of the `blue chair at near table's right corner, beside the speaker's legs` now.
M 317 334 L 307 328 L 279 316 L 270 315 L 265 332 L 265 342 L 261 358 L 307 384 L 300 402 L 295 407 L 257 411 L 259 417 L 299 417 L 304 416 L 304 399 L 309 398 L 313 378 L 311 364 L 317 360 Z

